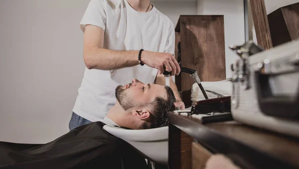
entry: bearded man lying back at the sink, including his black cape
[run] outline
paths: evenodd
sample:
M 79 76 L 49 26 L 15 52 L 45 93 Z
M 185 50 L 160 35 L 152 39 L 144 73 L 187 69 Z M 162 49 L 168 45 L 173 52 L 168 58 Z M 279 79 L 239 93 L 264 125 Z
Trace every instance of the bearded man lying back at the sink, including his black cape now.
M 128 143 L 107 133 L 105 124 L 128 129 L 167 126 L 175 109 L 170 87 L 137 79 L 116 88 L 116 105 L 103 122 L 77 127 L 43 145 L 0 142 L 0 169 L 145 169 L 145 159 Z

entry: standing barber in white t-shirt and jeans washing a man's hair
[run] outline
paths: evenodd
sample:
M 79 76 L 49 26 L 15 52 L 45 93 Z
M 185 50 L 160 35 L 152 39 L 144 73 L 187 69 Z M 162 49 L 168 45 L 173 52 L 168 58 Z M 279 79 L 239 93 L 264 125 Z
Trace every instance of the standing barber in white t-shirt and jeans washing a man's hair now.
M 174 26 L 150 0 L 91 0 L 81 20 L 84 32 L 84 77 L 69 129 L 103 121 L 115 105 L 115 88 L 136 78 L 165 85 L 163 66 L 171 75 L 180 67 L 174 53 Z M 184 109 L 175 83 L 175 105 Z M 142 89 L 140 89 L 142 90 Z

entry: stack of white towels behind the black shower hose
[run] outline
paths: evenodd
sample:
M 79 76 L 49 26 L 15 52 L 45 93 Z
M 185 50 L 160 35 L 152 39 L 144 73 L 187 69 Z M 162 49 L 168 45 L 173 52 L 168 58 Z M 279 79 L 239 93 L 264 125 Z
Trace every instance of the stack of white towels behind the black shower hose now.
M 216 93 L 219 93 L 223 96 L 232 95 L 232 83 L 229 80 L 216 81 L 216 82 L 201 82 L 204 90 L 210 90 Z M 206 92 L 209 99 L 217 98 L 216 95 Z M 199 86 L 197 83 L 192 85 L 191 89 L 191 101 L 197 102 L 200 100 L 205 100 Z

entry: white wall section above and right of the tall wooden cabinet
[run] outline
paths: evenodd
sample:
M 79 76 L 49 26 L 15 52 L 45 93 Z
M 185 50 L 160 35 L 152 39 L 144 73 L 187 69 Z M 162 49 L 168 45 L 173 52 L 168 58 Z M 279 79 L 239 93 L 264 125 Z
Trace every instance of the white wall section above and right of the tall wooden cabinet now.
M 226 78 L 230 78 L 230 65 L 238 56 L 228 47 L 245 42 L 243 0 L 197 0 L 197 14 L 224 15 Z

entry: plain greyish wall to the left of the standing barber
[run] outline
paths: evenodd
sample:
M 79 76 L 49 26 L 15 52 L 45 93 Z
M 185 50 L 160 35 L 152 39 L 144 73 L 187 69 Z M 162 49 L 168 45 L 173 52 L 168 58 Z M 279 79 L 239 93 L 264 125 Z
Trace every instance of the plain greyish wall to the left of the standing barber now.
M 88 2 L 0 0 L 0 141 L 44 143 L 68 132 Z

